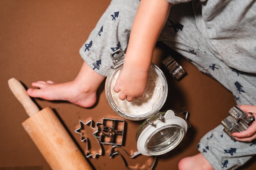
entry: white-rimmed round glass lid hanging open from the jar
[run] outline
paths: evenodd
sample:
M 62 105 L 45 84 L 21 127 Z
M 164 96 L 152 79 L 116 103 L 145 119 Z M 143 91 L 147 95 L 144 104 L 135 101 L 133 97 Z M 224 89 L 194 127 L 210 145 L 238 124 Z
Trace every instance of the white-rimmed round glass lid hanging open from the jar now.
M 137 148 L 142 155 L 163 155 L 173 150 L 186 134 L 188 125 L 173 110 L 145 121 L 136 133 Z

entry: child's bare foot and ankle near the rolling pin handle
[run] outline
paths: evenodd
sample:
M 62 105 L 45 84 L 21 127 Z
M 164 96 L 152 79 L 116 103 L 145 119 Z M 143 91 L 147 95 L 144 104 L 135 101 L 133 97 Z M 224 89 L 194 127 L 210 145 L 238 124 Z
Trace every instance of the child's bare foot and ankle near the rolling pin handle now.
M 29 88 L 27 94 L 46 100 L 65 100 L 82 107 L 91 107 L 97 100 L 96 92 L 105 77 L 96 73 L 85 62 L 76 79 L 72 82 L 56 84 L 51 81 L 39 81 Z

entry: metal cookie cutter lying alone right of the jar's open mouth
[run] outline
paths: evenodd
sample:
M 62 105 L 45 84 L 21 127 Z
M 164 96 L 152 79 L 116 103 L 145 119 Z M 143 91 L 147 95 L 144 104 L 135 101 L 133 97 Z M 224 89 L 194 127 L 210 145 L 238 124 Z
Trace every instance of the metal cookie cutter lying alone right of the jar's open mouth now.
M 186 74 L 182 66 L 180 66 L 171 55 L 168 55 L 168 57 L 162 60 L 162 63 L 176 80 L 180 80 Z

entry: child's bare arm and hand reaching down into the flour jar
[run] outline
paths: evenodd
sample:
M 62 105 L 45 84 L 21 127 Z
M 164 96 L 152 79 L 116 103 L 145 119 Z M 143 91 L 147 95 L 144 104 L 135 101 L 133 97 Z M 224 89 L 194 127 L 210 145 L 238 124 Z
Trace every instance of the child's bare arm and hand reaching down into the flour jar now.
M 148 83 L 153 50 L 168 18 L 171 4 L 166 0 L 141 0 L 130 33 L 122 69 L 114 86 L 119 99 L 141 99 Z

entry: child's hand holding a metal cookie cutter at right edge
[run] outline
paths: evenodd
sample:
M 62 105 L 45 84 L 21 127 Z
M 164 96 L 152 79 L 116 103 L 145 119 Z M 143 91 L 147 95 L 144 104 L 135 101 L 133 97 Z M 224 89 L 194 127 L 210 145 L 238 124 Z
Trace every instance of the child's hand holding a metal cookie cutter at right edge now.
M 239 106 L 244 112 L 252 113 L 256 117 L 256 106 L 253 105 L 240 105 Z M 236 137 L 237 141 L 252 141 L 256 139 L 256 121 L 252 123 L 247 130 L 242 132 L 234 132 L 232 136 Z

